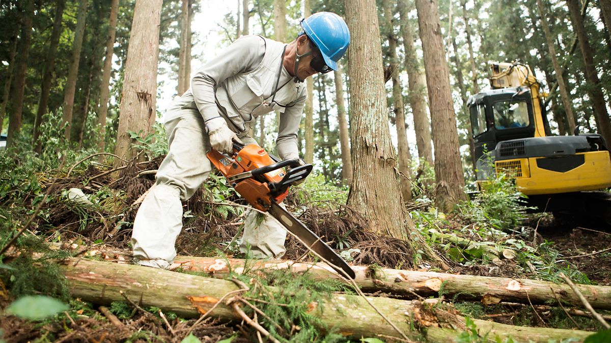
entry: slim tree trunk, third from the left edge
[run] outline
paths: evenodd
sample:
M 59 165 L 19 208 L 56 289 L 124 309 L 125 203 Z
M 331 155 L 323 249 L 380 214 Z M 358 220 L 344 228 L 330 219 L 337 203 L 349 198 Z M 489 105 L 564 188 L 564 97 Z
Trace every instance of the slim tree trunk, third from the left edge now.
M 78 67 L 81 62 L 82 38 L 85 35 L 85 21 L 87 18 L 87 2 L 89 0 L 80 0 L 78 6 L 78 15 L 76 15 L 76 29 L 74 40 L 72 42 L 72 59 L 70 69 L 68 70 L 68 79 L 66 80 L 66 88 L 64 90 L 64 137 L 70 139 L 70 130 L 72 127 L 72 112 L 75 104 L 76 79 L 78 78 Z

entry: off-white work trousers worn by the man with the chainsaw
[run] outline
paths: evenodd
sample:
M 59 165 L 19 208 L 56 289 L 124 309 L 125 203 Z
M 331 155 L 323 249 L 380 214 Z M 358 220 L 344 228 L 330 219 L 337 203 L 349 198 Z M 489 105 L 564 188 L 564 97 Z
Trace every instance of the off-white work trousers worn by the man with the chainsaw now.
M 183 108 L 184 105 L 177 99 L 167 111 L 164 125 L 169 152 L 159 166 L 155 186 L 144 198 L 134 220 L 131 244 L 137 264 L 168 269 L 174 262 L 176 238 L 183 226 L 181 201 L 192 197 L 212 168 L 206 157 L 210 139 L 203 118 L 197 110 Z M 257 144 L 248 136 L 241 140 Z M 268 216 L 257 226 L 257 214 L 246 211 L 240 251 L 252 258 L 284 255 L 287 237 L 284 226 Z

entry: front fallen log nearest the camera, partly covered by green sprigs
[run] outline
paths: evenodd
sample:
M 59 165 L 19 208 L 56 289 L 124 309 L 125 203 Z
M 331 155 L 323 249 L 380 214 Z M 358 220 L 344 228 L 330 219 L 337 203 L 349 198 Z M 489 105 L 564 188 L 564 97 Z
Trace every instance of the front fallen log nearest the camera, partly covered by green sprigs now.
M 155 306 L 182 317 L 198 317 L 228 292 L 239 289 L 227 280 L 89 259 L 66 259 L 62 262 L 62 268 L 74 297 L 104 305 L 123 301 L 120 293 L 123 292 L 141 306 Z M 437 316 L 439 309 L 447 308 L 447 305 L 433 306 L 436 303 L 434 299 L 420 302 L 368 297 L 368 300 L 409 339 L 417 340 L 424 334 L 430 341 L 453 341 L 461 332 L 460 328 L 464 328 L 464 318 L 456 316 L 451 310 L 444 311 L 445 316 Z M 329 294 L 325 300 L 310 304 L 310 308 L 310 315 L 318 317 L 327 327 L 335 328 L 345 336 L 360 338 L 377 334 L 400 337 L 363 298 L 356 295 Z M 211 316 L 240 319 L 226 303 L 220 303 Z M 514 327 L 485 320 L 474 322 L 482 336 L 488 334 L 487 337 L 492 339 L 511 336 L 519 342 L 566 338 L 583 340 L 591 334 L 577 330 Z M 425 330 L 420 332 L 414 328 Z

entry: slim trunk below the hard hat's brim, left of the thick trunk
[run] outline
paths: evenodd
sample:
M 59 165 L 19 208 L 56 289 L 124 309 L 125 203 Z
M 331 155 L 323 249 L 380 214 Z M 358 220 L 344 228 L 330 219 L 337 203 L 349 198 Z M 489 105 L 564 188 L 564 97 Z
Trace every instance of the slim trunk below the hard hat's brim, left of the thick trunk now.
M 343 99 L 342 65 L 337 65 L 335 77 L 335 103 L 337 104 L 337 121 L 340 130 L 340 149 L 342 152 L 342 179 L 346 185 L 352 182 L 352 157 L 350 156 L 350 141 L 346 107 Z

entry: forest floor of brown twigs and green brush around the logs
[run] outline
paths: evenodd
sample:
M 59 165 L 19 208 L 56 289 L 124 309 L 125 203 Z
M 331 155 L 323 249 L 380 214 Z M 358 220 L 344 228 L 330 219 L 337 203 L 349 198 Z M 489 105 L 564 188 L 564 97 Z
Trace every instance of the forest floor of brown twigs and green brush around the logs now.
M 115 178 L 108 173 L 112 167 L 95 164 L 89 164 L 86 168 L 82 164 L 75 165 L 74 170 L 68 172 L 64 168 L 56 173 L 58 177 L 54 184 L 55 175 L 39 174 L 38 195 L 32 192 L 13 193 L 12 197 L 21 199 L 23 211 L 15 209 L 16 203 L 5 201 L 0 208 L 1 215 L 8 222 L 23 223 L 16 220 L 17 215 L 32 214 L 36 201 L 42 198 L 40 195 L 51 189 L 49 200 L 43 204 L 36 220 L 20 240 L 19 249 L 34 250 L 32 247 L 36 244 L 32 243 L 32 239 L 37 238 L 38 242 L 46 244 L 78 244 L 101 250 L 112 248 L 129 254 L 131 223 L 138 201 L 154 180 L 153 174 L 146 171 L 155 170 L 160 161 L 155 159 L 143 164 L 132 162 L 115 171 L 118 173 L 114 175 Z M 81 189 L 91 203 L 79 204 L 68 200 L 66 192 L 73 187 Z M 324 182 L 319 182 L 291 193 L 285 203 L 312 231 L 326 237 L 325 240 L 338 253 L 352 259 L 353 264 L 393 269 L 411 265 L 413 256 L 406 253 L 409 251 L 406 242 L 371 232 L 359 215 L 338 205 L 341 203 L 338 197 L 345 197 L 345 194 L 338 195 L 341 192 L 339 189 L 329 190 Z M 212 176 L 207 185 L 185 204 L 185 226 L 177 240 L 178 255 L 243 257 L 236 248 L 236 237 L 240 235 L 244 212 L 235 206 L 236 203 L 244 204 L 223 179 Z M 576 218 L 554 218 L 547 214 L 525 216 L 518 211 L 519 220 L 503 230 L 498 222 L 483 219 L 486 216 L 480 212 L 485 211 L 486 206 L 485 203 L 469 204 L 467 209 L 448 215 L 437 212 L 426 201 L 409 204 L 408 207 L 412 209 L 416 228 L 450 266 L 450 270 L 446 271 L 448 273 L 531 278 L 559 283 L 562 281 L 558 273 L 563 272 L 576 283 L 611 285 L 611 251 L 606 251 L 611 245 L 609 226 Z M 13 234 L 14 228 L 8 232 Z M 6 242 L 7 231 L 3 232 L 2 241 Z M 444 234 L 477 242 L 478 248 L 450 244 L 444 240 Z M 284 259 L 296 260 L 307 255 L 305 247 L 291 237 L 288 237 L 286 247 Z M 510 249 L 516 254 L 491 261 L 486 257 L 488 248 L 498 251 Z M 305 261 L 313 259 L 306 257 Z M 2 312 L 21 295 L 20 292 L 48 293 L 40 285 L 22 285 L 24 288 L 18 289 L 14 276 L 26 272 L 18 269 L 11 258 L 5 258 L 2 263 L 17 268 L 16 272 L 11 269 L 3 272 L 0 269 Z M 439 271 L 433 263 L 426 261 L 411 269 Z M 518 306 L 513 303 L 486 306 L 478 301 L 458 300 L 453 303 L 462 314 L 472 318 L 531 327 L 601 330 L 601 325 L 589 317 L 574 317 L 574 321 L 569 321 L 562 310 L 551 306 Z M 117 327 L 95 304 L 71 299 L 69 306 L 70 309 L 63 314 L 42 321 L 0 314 L 4 341 L 180 342 L 190 331 L 202 342 L 219 342 L 223 339 L 227 339 L 224 342 L 249 342 L 255 339 L 254 330 L 236 322 L 209 318 L 193 326 L 196 323 L 194 319 L 186 320 L 166 314 L 167 325 L 159 317 L 159 309 L 150 308 L 145 313 L 127 303 L 115 302 L 109 308 L 122 322 L 122 326 Z M 611 314 L 609 311 L 601 312 Z

